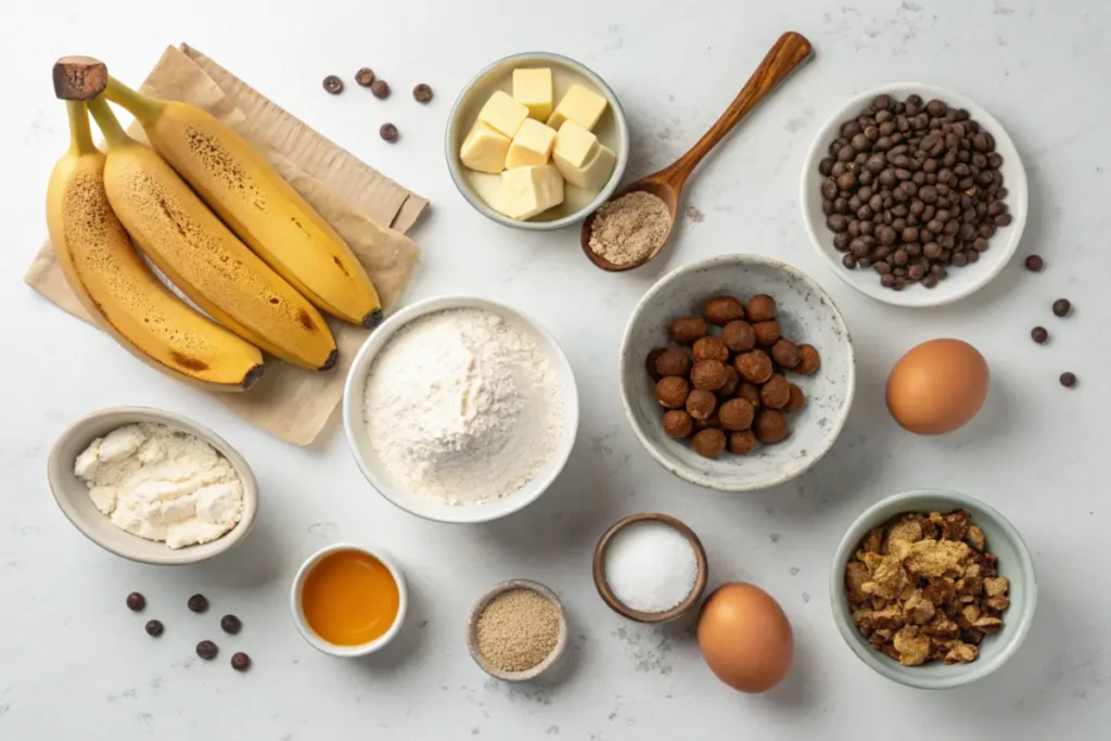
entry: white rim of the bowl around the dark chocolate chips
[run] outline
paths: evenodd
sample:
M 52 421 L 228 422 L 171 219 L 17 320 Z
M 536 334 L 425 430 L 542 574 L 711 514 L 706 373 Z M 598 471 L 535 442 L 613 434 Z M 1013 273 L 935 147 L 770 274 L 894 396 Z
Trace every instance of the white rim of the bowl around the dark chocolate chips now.
M 819 231 L 822 231 L 823 234 L 828 232 L 825 224 L 814 223 L 810 218 L 810 210 L 807 208 L 807 203 L 813 197 L 812 189 L 810 188 L 812 184 L 811 178 L 813 177 L 813 173 L 818 171 L 818 162 L 821 161 L 823 157 L 822 152 L 828 144 L 825 140 L 829 136 L 830 129 L 844 121 L 850 111 L 863 110 L 863 108 L 867 107 L 867 103 L 871 99 L 875 98 L 875 96 L 903 90 L 925 92 L 930 96 L 958 103 L 961 108 L 971 111 L 973 118 L 980 119 L 983 123 L 987 123 L 992 128 L 992 133 L 997 140 L 1005 140 L 1008 144 L 1010 144 L 1011 149 L 1014 150 L 1015 164 L 1018 166 L 1020 173 L 1020 178 L 1017 183 L 1009 183 L 1007 186 L 1011 196 L 1021 203 L 1021 208 L 1011 209 L 1012 214 L 1017 213 L 1017 219 L 1011 223 L 1013 231 L 1010 240 L 1005 246 L 999 246 L 1000 253 L 1003 257 L 999 259 L 998 264 L 993 266 L 991 269 L 985 269 L 975 281 L 971 282 L 962 290 L 939 291 L 938 289 L 934 289 L 929 292 L 929 300 L 917 301 L 913 303 L 908 302 L 907 297 L 912 294 L 905 291 L 892 291 L 890 289 L 881 290 L 879 284 L 877 284 L 878 288 L 875 291 L 868 291 L 852 280 L 850 276 L 853 271 L 847 270 L 844 266 L 834 259 L 834 251 L 829 244 L 829 240 L 823 242 L 819 238 Z M 810 144 L 810 150 L 807 152 L 802 164 L 802 178 L 799 184 L 799 208 L 802 211 L 802 224 L 807 230 L 807 234 L 810 237 L 812 247 L 819 254 L 821 254 L 822 260 L 830 266 L 831 270 L 839 280 L 843 281 L 848 286 L 851 286 L 852 289 L 859 293 L 875 301 L 881 301 L 895 307 L 907 307 L 910 309 L 928 309 L 930 307 L 941 307 L 947 303 L 953 303 L 968 298 L 990 283 L 997 276 L 999 276 L 1000 272 L 1003 271 L 1007 264 L 1014 257 L 1015 251 L 1018 251 L 1019 242 L 1022 241 L 1022 234 L 1025 231 L 1027 217 L 1030 211 L 1030 187 L 1027 178 L 1027 169 L 1022 163 L 1022 154 L 1019 151 L 1019 148 L 1015 147 L 1014 141 L 1011 139 L 1011 136 L 1008 133 L 1003 124 L 991 114 L 991 111 L 968 96 L 929 82 L 889 82 L 853 96 L 844 104 L 835 109 L 818 128 L 818 132 L 814 134 L 814 139 Z M 987 266 L 984 266 L 984 268 L 987 268 Z

